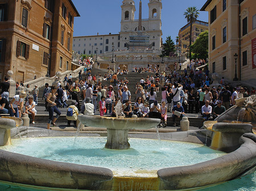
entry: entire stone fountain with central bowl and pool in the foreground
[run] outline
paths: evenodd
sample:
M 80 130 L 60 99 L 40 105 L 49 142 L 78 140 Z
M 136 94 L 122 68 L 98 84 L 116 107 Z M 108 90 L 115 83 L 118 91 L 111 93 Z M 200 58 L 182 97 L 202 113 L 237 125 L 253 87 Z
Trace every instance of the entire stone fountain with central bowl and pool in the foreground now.
M 166 154 L 163 150 L 167 149 L 168 152 L 172 152 L 172 148 L 177 147 L 181 152 L 183 148 L 177 146 L 163 146 L 169 141 L 183 141 L 190 143 L 200 143 L 199 147 L 204 147 L 205 136 L 207 130 L 185 131 L 175 133 L 162 133 L 160 134 L 160 145 L 156 143 L 158 137 L 152 133 L 137 133 L 130 134 L 130 137 L 140 138 L 141 142 L 134 142 L 130 138 L 128 142 L 129 129 L 144 129 L 154 127 L 159 124 L 159 120 L 150 118 L 113 118 L 113 117 L 100 117 L 100 116 L 79 116 L 80 122 L 85 125 L 95 127 L 105 127 L 108 129 L 108 137 L 105 138 L 92 138 L 94 141 L 99 142 L 100 147 L 96 147 L 94 142 L 86 142 L 85 146 L 81 146 L 85 139 L 81 138 L 76 146 L 73 146 L 73 141 L 67 141 L 63 139 L 59 141 L 57 137 L 67 137 L 74 134 L 66 132 L 56 132 L 46 129 L 27 128 L 22 131 L 23 137 L 49 137 L 54 136 L 53 139 L 56 143 L 60 143 L 60 148 L 55 148 L 55 142 L 50 143 L 53 148 L 47 146 L 47 142 L 50 142 L 46 138 L 30 138 L 26 140 L 28 142 L 23 145 L 31 145 L 34 147 L 34 142 L 38 141 L 40 146 L 40 152 L 46 155 L 46 158 L 39 158 L 40 152 L 35 157 L 24 155 L 15 152 L 10 152 L 10 146 L 0 147 L 0 183 L 1 181 L 15 182 L 19 184 L 27 184 L 33 186 L 48 186 L 47 189 L 67 188 L 67 189 L 86 189 L 86 190 L 179 190 L 179 189 L 197 189 L 203 186 L 220 184 L 221 182 L 237 179 L 238 177 L 250 175 L 255 172 L 256 169 L 256 135 L 251 133 L 254 128 L 252 124 L 255 121 L 250 121 L 251 124 L 247 124 L 249 121 L 247 112 L 249 115 L 254 112 L 254 97 L 250 97 L 248 100 L 241 101 L 243 106 L 236 107 L 237 115 L 233 115 L 232 111 L 229 116 L 228 111 L 224 113 L 226 117 L 218 117 L 218 121 L 208 124 L 208 129 L 212 129 L 213 134 L 219 138 L 212 138 L 212 148 L 216 150 L 225 150 L 227 153 L 223 153 L 217 158 L 207 159 L 207 161 L 180 164 L 154 168 L 154 161 L 156 159 L 167 160 Z M 117 109 L 117 108 L 115 108 Z M 242 109 L 243 113 L 239 111 Z M 120 110 L 120 108 L 119 108 Z M 243 115 L 243 124 L 225 122 L 226 119 L 230 121 L 236 121 L 237 117 Z M 120 116 L 121 113 L 118 114 Z M 240 119 L 241 117 L 238 117 Z M 253 117 L 251 117 L 253 118 Z M 222 120 L 223 119 L 223 120 Z M 246 123 L 245 123 L 246 122 Z M 2 122 L 0 121 L 0 126 Z M 205 125 L 207 123 L 205 122 Z M 220 132 L 221 131 L 221 132 Z M 81 133 L 85 134 L 85 133 Z M 88 134 L 85 134 L 88 136 Z M 91 135 L 92 136 L 92 135 Z M 94 135 L 96 136 L 96 134 Z M 212 135 L 208 134 L 208 137 Z M 156 139 L 155 142 L 144 142 L 147 139 Z M 218 140 L 218 144 L 214 143 L 215 139 Z M 42 141 L 40 141 L 42 140 Z M 73 138 L 71 138 L 73 140 Z M 19 144 L 19 139 L 15 140 L 15 144 Z M 23 141 L 23 140 L 22 140 Z M 153 140 L 154 141 L 154 140 Z M 189 142 L 189 143 L 188 143 Z M 105 144 L 106 143 L 106 144 Z M 105 148 L 104 147 L 105 144 Z M 129 149 L 131 144 L 131 148 Z M 215 145 L 214 145 L 215 144 Z M 21 145 L 20 147 L 23 147 Z M 157 147 L 154 152 L 155 156 L 145 156 L 143 159 L 138 159 L 138 162 L 146 163 L 146 169 L 139 167 L 135 169 L 134 173 L 117 172 L 118 169 L 110 169 L 107 166 L 101 166 L 101 163 L 106 161 L 112 163 L 118 163 L 123 161 L 123 165 L 128 165 L 127 168 L 133 168 L 134 162 L 131 160 L 133 156 L 141 155 L 142 151 L 139 151 L 137 147 L 146 148 Z M 15 147 L 15 146 L 14 146 Z M 200 148 L 189 148 L 189 151 L 185 152 L 185 155 L 179 156 L 181 159 L 192 160 L 195 156 L 189 156 L 188 153 L 192 150 L 198 151 L 196 154 L 201 158 L 200 153 L 207 155 L 209 151 L 202 151 Z M 111 148 L 111 149 L 108 149 Z M 44 153 L 44 150 L 47 151 Z M 42 152 L 43 151 L 43 152 Z M 213 151 L 213 150 L 212 150 Z M 36 151 L 32 151 L 37 154 Z M 63 155 L 66 152 L 70 152 L 71 155 L 67 159 L 63 159 Z M 76 158 L 76 152 L 78 152 L 82 158 Z M 146 151 L 150 152 L 150 151 Z M 163 154 L 162 154 L 163 152 Z M 218 151 L 216 151 L 218 152 Z M 133 153 L 133 154 L 132 154 Z M 53 161 L 48 156 L 59 155 L 62 160 Z M 101 155 L 102 159 L 95 159 L 94 156 Z M 115 159 L 109 159 L 109 156 L 117 156 Z M 171 153 L 171 156 L 176 156 L 176 153 Z M 88 160 L 92 160 L 91 164 L 81 165 L 81 161 L 85 160 L 85 156 L 89 156 Z M 162 158 L 163 157 L 163 158 Z M 72 159 L 71 159 L 72 158 Z M 136 159 L 135 159 L 136 160 Z M 147 163 L 147 162 L 153 163 Z M 74 164 L 72 162 L 77 162 Z M 97 162 L 97 163 L 96 163 Z M 94 163 L 96 166 L 94 166 Z M 158 163 L 158 162 L 157 162 Z M 93 166 L 92 166 L 93 165 Z M 121 168 L 121 167 L 117 167 Z M 239 181 L 239 180 L 238 180 Z M 1 188 L 1 187 L 0 187 Z M 255 186 L 254 186 L 255 188 Z M 209 189 L 210 190 L 210 189 Z M 220 189 L 221 190 L 221 189 Z M 224 190 L 224 189 L 222 189 Z

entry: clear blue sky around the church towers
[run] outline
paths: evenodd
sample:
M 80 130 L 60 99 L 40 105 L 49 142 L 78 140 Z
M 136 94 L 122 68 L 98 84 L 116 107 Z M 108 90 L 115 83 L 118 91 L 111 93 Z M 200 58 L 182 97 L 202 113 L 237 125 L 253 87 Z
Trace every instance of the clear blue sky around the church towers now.
M 162 31 L 163 41 L 167 36 L 172 40 L 179 29 L 187 24 L 184 12 L 188 7 L 196 6 L 198 10 L 207 0 L 162 0 Z M 139 18 L 139 0 L 136 6 L 135 19 Z M 142 19 L 148 18 L 149 0 L 142 0 Z M 73 0 L 80 17 L 75 18 L 73 36 L 117 34 L 120 31 L 122 0 Z M 199 11 L 199 20 L 208 22 L 208 12 Z

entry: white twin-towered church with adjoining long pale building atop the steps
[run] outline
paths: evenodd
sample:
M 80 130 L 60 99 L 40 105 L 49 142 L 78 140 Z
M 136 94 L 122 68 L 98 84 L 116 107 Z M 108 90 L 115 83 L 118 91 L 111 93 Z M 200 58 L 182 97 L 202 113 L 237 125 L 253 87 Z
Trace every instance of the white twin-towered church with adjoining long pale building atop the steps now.
M 73 50 L 80 54 L 104 54 L 117 50 L 127 50 L 130 36 L 137 35 L 139 19 L 134 19 L 136 11 L 133 0 L 123 0 L 121 5 L 121 29 L 119 34 L 73 37 Z M 162 45 L 161 0 L 150 0 L 148 19 L 142 19 L 142 32 L 150 36 L 150 44 L 159 50 Z M 113 46 L 113 48 L 112 48 Z M 98 48 L 98 51 L 96 51 Z

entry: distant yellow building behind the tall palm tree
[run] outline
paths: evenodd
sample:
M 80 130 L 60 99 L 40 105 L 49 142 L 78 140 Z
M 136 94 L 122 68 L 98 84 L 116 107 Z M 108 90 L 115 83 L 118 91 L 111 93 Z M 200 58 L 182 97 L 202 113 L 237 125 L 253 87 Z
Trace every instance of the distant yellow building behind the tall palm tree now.
M 208 23 L 203 22 L 201 20 L 196 20 L 195 23 L 192 24 L 192 44 L 197 39 L 201 32 L 208 30 Z M 186 24 L 184 27 L 180 28 L 179 31 L 179 44 L 181 46 L 181 53 L 186 53 L 187 48 L 189 47 L 189 39 L 190 39 L 190 23 Z

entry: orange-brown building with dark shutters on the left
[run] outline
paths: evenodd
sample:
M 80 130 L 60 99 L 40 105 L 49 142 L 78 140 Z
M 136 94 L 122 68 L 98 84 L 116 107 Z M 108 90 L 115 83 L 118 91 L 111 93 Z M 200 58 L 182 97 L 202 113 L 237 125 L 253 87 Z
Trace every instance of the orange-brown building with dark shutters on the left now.
M 80 16 L 71 0 L 0 0 L 1 80 L 55 75 L 71 69 L 73 21 Z

